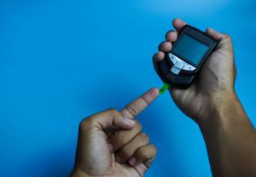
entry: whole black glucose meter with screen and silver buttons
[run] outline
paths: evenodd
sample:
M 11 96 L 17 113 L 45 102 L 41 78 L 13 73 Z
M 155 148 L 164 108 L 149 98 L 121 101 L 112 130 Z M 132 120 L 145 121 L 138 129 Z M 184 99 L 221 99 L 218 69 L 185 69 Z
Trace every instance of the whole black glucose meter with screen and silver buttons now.
M 188 88 L 216 45 L 205 32 L 184 26 L 170 53 L 157 66 L 160 78 L 172 87 Z

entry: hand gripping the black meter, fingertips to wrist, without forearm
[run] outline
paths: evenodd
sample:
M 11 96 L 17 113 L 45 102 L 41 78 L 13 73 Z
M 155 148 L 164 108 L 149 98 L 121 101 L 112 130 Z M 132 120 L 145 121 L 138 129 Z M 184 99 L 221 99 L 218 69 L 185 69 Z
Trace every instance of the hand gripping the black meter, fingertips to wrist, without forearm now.
M 166 42 L 160 43 L 160 51 L 154 54 L 154 68 L 163 60 L 165 53 L 172 49 L 172 43 L 177 40 L 178 32 L 186 25 L 183 20 L 173 20 L 176 31 L 166 33 Z M 211 106 L 216 106 L 224 100 L 236 96 L 234 83 L 236 80 L 236 66 L 231 38 L 228 35 L 207 28 L 207 35 L 218 41 L 215 51 L 201 67 L 199 76 L 187 89 L 169 88 L 172 99 L 187 116 L 196 122 L 207 117 Z

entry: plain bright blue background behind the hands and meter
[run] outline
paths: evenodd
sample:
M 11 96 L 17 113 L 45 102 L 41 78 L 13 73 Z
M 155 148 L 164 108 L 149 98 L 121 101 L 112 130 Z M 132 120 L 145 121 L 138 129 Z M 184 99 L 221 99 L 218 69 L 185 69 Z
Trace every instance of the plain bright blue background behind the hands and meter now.
M 255 120 L 256 2 L 1 1 L 0 171 L 2 176 L 67 176 L 79 122 L 162 83 L 151 57 L 183 18 L 233 37 L 236 91 Z M 197 125 L 160 96 L 138 119 L 159 148 L 146 176 L 211 176 Z

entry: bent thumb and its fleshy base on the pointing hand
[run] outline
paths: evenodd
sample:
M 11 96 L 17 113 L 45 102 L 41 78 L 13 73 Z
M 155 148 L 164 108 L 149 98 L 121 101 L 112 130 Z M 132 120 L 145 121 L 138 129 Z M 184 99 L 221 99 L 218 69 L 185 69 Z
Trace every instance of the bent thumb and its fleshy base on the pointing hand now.
M 122 117 L 115 109 L 85 118 L 79 125 L 76 167 L 96 176 L 107 174 L 113 165 L 106 136 L 108 128 L 131 129 L 134 126 L 133 120 Z

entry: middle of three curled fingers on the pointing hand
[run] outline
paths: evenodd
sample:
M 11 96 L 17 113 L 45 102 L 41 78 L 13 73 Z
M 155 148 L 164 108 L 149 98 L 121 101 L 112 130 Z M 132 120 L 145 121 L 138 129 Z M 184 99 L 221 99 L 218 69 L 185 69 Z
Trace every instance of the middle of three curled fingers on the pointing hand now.
M 149 138 L 147 134 L 140 133 L 137 134 L 135 138 L 133 138 L 128 144 L 123 146 L 116 152 L 116 161 L 118 163 L 125 163 L 128 161 L 134 152 L 143 146 L 148 145 Z

